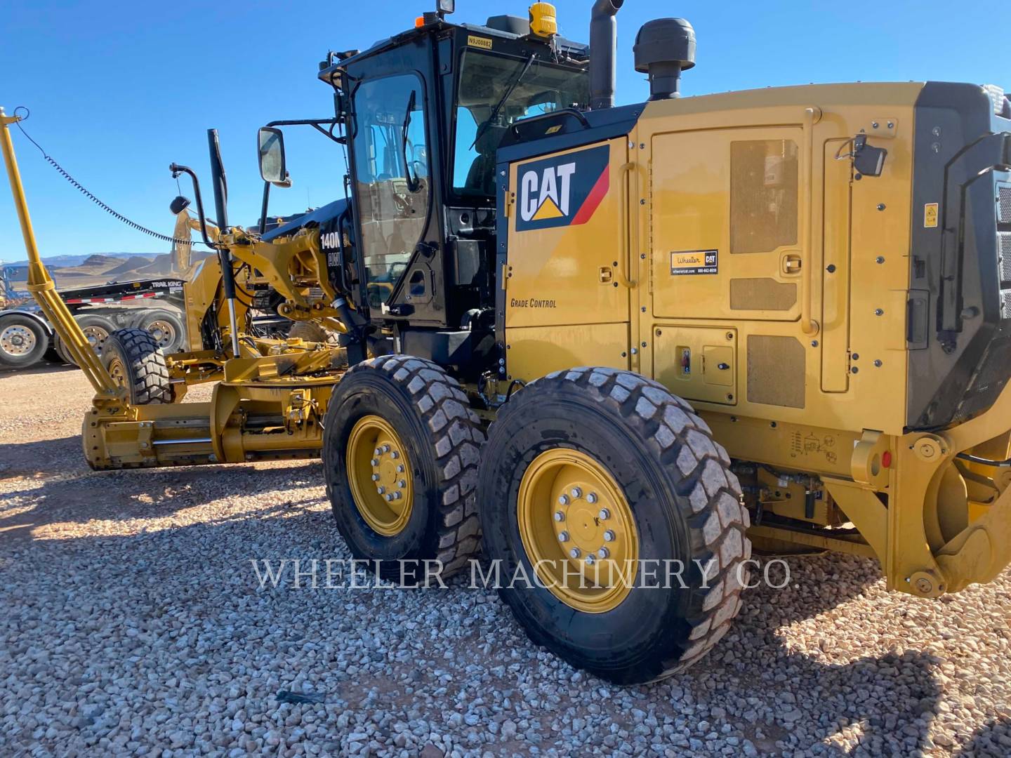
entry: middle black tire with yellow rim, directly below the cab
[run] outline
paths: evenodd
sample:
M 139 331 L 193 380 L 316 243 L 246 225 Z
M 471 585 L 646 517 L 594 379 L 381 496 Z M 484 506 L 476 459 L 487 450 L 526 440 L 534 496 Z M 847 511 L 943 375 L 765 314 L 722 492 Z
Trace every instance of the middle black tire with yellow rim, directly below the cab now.
M 441 561 L 444 576 L 466 565 L 484 433 L 455 379 L 419 358 L 370 359 L 341 379 L 325 424 L 327 494 L 355 558 L 387 579 L 401 559 Z M 404 566 L 402 579 L 424 580 L 424 565 Z

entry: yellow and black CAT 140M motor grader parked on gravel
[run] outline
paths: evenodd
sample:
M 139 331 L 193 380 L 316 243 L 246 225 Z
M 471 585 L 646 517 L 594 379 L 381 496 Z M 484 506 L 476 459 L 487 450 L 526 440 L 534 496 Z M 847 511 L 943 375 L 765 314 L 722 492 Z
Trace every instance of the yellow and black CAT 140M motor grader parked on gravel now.
M 330 54 L 334 117 L 259 132 L 262 218 L 294 123 L 347 150 L 347 196 L 269 231 L 229 225 L 211 133 L 217 256 L 177 355 L 133 331 L 104 365 L 88 349 L 4 116 L 30 289 L 96 388 L 89 463 L 321 455 L 355 557 L 449 572 L 480 543 L 503 581 L 536 579 L 499 590 L 532 639 L 621 682 L 726 634 L 751 546 L 874 557 L 921 597 L 993 579 L 1011 104 L 938 82 L 680 97 L 695 33 L 659 19 L 634 49 L 649 100 L 615 107 L 621 5 L 593 4 L 588 46 L 546 3 L 456 24 L 440 2 Z M 340 344 L 250 334 L 257 296 Z M 638 581 L 672 561 L 678 581 Z

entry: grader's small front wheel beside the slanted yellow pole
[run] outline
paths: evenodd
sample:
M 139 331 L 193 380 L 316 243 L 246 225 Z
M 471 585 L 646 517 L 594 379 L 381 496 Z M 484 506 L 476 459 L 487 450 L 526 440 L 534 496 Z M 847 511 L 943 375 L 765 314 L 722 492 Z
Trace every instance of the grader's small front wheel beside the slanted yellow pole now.
M 101 359 L 112 380 L 129 390 L 131 405 L 172 402 L 165 354 L 151 333 L 139 328 L 113 331 L 105 340 Z

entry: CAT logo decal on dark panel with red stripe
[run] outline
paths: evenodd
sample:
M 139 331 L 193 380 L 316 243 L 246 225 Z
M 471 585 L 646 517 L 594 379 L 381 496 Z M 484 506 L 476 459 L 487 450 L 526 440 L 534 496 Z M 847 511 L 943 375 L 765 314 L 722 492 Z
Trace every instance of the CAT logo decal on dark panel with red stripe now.
M 523 164 L 517 231 L 585 223 L 608 194 L 609 146 Z

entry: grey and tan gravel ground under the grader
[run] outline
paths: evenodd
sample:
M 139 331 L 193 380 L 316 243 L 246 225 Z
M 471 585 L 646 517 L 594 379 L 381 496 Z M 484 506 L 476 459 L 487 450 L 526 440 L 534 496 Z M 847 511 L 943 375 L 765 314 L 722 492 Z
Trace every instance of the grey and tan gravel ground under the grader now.
M 349 557 L 319 465 L 91 472 L 90 395 L 0 376 L 2 755 L 1011 755 L 1011 574 L 928 601 L 791 561 L 702 664 L 616 687 L 463 580 L 261 589 Z

